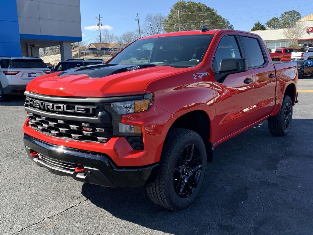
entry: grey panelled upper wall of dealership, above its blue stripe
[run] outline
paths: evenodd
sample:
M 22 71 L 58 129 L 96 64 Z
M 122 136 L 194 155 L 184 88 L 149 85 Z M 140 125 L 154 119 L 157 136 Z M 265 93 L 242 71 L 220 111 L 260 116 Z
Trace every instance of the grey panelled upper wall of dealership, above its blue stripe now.
M 20 34 L 81 37 L 79 0 L 17 0 Z

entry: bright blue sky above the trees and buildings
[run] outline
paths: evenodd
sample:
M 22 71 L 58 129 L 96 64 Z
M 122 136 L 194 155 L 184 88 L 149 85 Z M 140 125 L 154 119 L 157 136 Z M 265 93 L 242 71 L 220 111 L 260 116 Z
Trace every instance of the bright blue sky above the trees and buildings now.
M 279 17 L 281 13 L 290 10 L 297 10 L 301 17 L 313 12 L 313 4 L 309 2 L 297 3 L 297 1 L 284 0 L 273 2 L 261 1 L 208 1 L 201 2 L 217 10 L 218 14 L 228 19 L 235 29 L 249 31 L 256 21 L 265 24 L 272 17 Z M 102 24 L 110 30 L 110 33 L 120 35 L 127 30 L 138 29 L 135 14 L 139 13 L 141 22 L 148 13 L 162 13 L 167 15 L 169 9 L 176 3 L 174 0 L 80 0 L 81 25 L 83 41 L 95 42 L 97 31 L 96 16 L 100 13 Z M 265 4 L 264 4 L 265 3 Z M 91 29 L 84 29 L 89 27 Z M 84 36 L 85 35 L 85 36 Z

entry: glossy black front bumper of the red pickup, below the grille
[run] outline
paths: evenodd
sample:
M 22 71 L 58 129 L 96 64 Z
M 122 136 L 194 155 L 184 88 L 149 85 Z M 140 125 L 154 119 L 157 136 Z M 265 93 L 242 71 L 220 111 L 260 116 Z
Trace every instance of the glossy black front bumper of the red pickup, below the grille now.
M 24 135 L 28 157 L 37 165 L 56 175 L 71 176 L 75 180 L 107 187 L 137 187 L 151 184 L 156 177 L 158 164 L 144 167 L 116 167 L 109 156 L 94 152 L 53 145 Z M 31 157 L 36 151 L 38 157 Z M 70 168 L 85 166 L 85 172 Z

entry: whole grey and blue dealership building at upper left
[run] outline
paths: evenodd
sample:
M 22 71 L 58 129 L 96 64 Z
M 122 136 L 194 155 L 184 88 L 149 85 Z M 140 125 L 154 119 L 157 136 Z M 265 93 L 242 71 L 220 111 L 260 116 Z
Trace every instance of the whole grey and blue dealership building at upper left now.
M 61 60 L 72 58 L 80 0 L 5 0 L 0 9 L 0 56 L 39 57 L 39 48 L 60 45 Z

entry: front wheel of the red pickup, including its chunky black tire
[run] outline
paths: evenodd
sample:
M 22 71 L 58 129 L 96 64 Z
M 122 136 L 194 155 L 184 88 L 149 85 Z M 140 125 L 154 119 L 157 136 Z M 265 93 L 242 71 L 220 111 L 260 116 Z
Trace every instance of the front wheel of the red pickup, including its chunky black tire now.
M 200 190 L 206 164 L 205 145 L 197 132 L 170 129 L 162 149 L 156 180 L 147 187 L 150 199 L 170 210 L 189 206 Z

